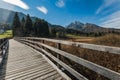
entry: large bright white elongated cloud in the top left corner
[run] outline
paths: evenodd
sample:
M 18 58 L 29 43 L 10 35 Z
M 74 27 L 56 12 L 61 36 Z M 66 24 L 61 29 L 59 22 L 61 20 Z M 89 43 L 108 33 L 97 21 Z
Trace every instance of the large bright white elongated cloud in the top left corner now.
M 29 9 L 29 6 L 26 3 L 24 3 L 22 0 L 3 0 L 3 1 L 12 5 L 18 6 L 20 8 L 23 8 L 25 10 Z

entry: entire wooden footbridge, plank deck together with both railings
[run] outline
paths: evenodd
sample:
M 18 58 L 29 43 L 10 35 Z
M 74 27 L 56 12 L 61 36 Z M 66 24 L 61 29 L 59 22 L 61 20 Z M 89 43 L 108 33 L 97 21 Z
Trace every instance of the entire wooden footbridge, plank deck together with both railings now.
M 100 74 L 105 80 L 120 80 L 119 72 L 61 49 L 68 45 L 120 55 L 119 47 L 35 37 L 1 39 L 0 43 L 0 80 L 89 80 L 66 60 Z M 47 45 L 50 43 L 53 46 Z

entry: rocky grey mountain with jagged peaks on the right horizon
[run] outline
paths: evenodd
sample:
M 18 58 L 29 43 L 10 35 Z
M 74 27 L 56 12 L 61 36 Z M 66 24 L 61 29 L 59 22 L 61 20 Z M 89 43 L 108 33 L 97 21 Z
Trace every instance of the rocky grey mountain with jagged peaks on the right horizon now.
M 120 29 L 114 29 L 114 28 L 104 28 L 101 26 L 98 26 L 96 24 L 92 24 L 92 23 L 86 23 L 83 24 L 79 21 L 75 21 L 70 23 L 67 27 L 67 29 L 74 29 L 74 30 L 79 30 L 81 32 L 85 32 L 85 33 L 90 33 L 90 32 L 120 32 Z

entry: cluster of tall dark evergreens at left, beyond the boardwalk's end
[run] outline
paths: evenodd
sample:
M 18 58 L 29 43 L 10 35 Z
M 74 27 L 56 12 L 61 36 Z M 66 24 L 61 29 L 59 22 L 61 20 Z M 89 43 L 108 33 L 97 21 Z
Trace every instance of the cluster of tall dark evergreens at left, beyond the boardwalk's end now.
M 13 36 L 21 36 L 21 37 L 49 37 L 49 26 L 45 20 L 36 18 L 35 21 L 32 21 L 29 14 L 27 14 L 26 18 L 22 18 L 20 20 L 18 13 L 15 13 L 12 23 L 13 28 Z

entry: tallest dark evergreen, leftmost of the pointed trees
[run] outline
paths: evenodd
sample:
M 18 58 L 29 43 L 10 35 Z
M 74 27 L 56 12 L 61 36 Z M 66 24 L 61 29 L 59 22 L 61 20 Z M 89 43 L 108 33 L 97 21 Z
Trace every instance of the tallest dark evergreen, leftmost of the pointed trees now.
M 13 36 L 20 36 L 20 19 L 18 16 L 18 13 L 15 13 L 14 19 L 13 19 Z

